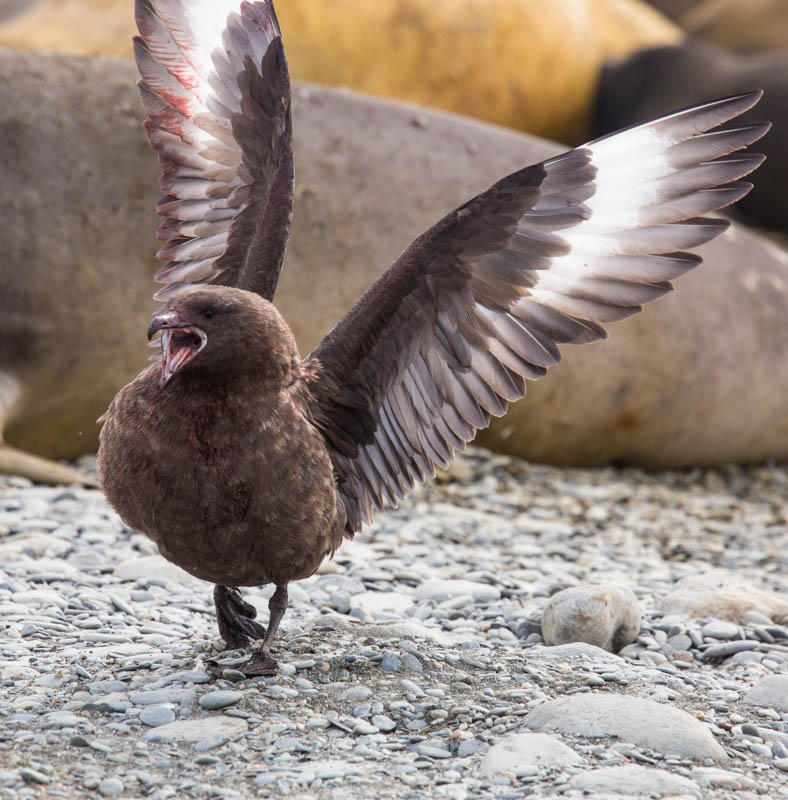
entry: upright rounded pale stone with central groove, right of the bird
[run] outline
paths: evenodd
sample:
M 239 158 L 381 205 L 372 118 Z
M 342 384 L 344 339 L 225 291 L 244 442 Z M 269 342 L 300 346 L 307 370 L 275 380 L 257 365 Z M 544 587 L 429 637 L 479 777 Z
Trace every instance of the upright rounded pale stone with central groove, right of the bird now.
M 585 642 L 610 653 L 631 644 L 640 632 L 640 604 L 622 586 L 576 586 L 554 594 L 542 615 L 547 645 Z

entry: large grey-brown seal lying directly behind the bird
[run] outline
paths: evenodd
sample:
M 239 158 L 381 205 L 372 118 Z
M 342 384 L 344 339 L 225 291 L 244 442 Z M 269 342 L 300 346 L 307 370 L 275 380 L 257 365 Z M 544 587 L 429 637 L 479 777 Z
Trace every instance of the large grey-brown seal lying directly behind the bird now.
M 0 52 L 0 392 L 6 440 L 67 457 L 145 363 L 155 159 L 130 64 Z M 302 352 L 410 242 L 560 146 L 347 91 L 294 90 L 296 204 L 277 293 Z M 561 463 L 788 454 L 788 258 L 735 227 L 611 341 L 565 348 L 485 444 Z

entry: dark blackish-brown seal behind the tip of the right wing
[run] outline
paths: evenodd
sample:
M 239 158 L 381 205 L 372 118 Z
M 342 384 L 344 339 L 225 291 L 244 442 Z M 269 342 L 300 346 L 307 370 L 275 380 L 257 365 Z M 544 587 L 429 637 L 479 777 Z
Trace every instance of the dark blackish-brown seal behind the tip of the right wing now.
M 767 119 L 773 128 L 757 144 L 767 160 L 754 177 L 755 188 L 737 208 L 760 225 L 788 232 L 788 52 L 739 55 L 692 41 L 641 50 L 605 67 L 594 135 L 752 89 L 763 89 L 763 99 L 740 121 Z

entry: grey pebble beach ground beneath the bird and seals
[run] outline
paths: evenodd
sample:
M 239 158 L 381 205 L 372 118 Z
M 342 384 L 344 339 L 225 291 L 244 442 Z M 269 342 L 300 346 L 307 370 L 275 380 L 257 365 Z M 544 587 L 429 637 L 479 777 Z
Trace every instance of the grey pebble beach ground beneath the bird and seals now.
M 471 450 L 291 585 L 246 679 L 99 492 L 0 478 L 0 798 L 788 797 L 787 484 Z M 640 616 L 620 655 L 545 646 L 573 587 Z

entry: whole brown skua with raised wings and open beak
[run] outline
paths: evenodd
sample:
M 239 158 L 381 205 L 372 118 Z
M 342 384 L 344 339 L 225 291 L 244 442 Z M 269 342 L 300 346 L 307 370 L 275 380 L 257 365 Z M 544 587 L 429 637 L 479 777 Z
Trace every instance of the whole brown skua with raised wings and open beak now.
M 229 645 L 264 639 L 243 669 L 269 674 L 287 584 L 445 467 L 559 343 L 603 338 L 602 323 L 669 291 L 699 261 L 680 251 L 727 226 L 696 217 L 746 194 L 738 180 L 762 160 L 711 159 L 768 125 L 704 133 L 752 93 L 503 178 L 414 241 L 301 359 L 269 302 L 292 204 L 273 8 L 138 0 L 137 20 L 168 303 L 148 332 L 162 333 L 161 366 L 106 414 L 100 476 L 130 526 L 217 584 Z M 236 588 L 266 583 L 267 630 Z

